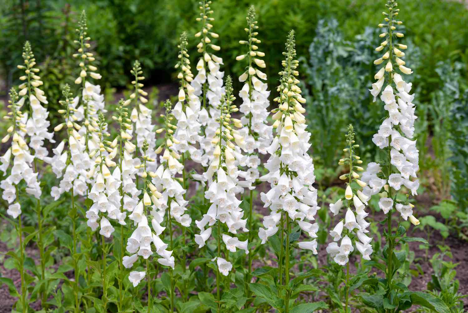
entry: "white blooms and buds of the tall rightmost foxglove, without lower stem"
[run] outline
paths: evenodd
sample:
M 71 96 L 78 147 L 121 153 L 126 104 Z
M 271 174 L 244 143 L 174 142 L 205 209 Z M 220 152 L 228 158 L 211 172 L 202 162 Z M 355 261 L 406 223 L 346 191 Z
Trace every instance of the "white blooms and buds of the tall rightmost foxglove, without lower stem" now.
M 389 6 L 390 13 L 383 12 L 386 16 L 385 23 L 379 24 L 379 27 L 387 28 L 386 32 L 380 34 L 380 37 L 386 39 L 375 49 L 378 52 L 384 49 L 388 49 L 388 51 L 381 58 L 374 61 L 376 65 L 384 61 L 387 63 L 375 74 L 374 78 L 377 82 L 373 83 L 372 89 L 369 90 L 375 101 L 384 83 L 387 82 L 387 86 L 381 92 L 380 99 L 385 103 L 384 108 L 388 112 L 388 117 L 380 125 L 378 133 L 374 134 L 373 142 L 380 149 L 388 150 L 390 165 L 388 165 L 388 173 L 379 176 L 380 164 L 369 164 L 362 177 L 362 180 L 369 185 L 363 190 L 367 196 L 380 193 L 382 187 L 386 184 L 394 190 L 400 190 L 401 186 L 404 185 L 413 195 L 417 194 L 419 188 L 419 180 L 416 179 L 416 172 L 419 170 L 419 151 L 416 148 L 416 141 L 410 140 L 413 137 L 414 122 L 417 119 L 415 115 L 416 108 L 412 103 L 415 96 L 409 94 L 412 84 L 405 82 L 402 75 L 395 71 L 398 69 L 402 74 L 406 75 L 413 72 L 410 68 L 404 66 L 405 61 L 401 59 L 405 53 L 400 49 L 404 50 L 407 46 L 395 43 L 397 38 L 403 37 L 402 33 L 395 31 L 395 25 L 402 24 L 401 21 L 394 20 L 399 11 L 396 8 L 397 3 L 391 1 Z M 393 172 L 392 165 L 398 172 Z M 409 203 L 395 203 L 394 205 L 394 200 L 391 197 L 383 197 L 379 201 L 379 207 L 385 214 L 395 207 L 401 213 L 403 219 L 410 218 L 413 224 L 418 223 L 417 219 L 412 216 L 413 206 Z

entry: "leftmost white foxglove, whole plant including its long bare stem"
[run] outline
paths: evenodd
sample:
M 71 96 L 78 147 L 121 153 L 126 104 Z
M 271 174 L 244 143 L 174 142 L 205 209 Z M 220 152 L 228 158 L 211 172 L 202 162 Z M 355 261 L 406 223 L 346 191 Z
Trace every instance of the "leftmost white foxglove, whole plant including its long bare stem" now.
M 23 243 L 22 233 L 22 221 L 21 221 L 21 204 L 20 204 L 20 189 L 18 184 L 24 179 L 26 182 L 26 192 L 30 194 L 29 189 L 39 188 L 39 182 L 37 181 L 37 173 L 32 169 L 32 163 L 34 156 L 29 152 L 29 146 L 25 141 L 26 120 L 28 115 L 21 112 L 21 107 L 24 104 L 24 97 L 19 100 L 18 91 L 12 88 L 9 93 L 10 100 L 8 100 L 8 115 L 3 116 L 5 121 L 11 121 L 11 125 L 7 128 L 7 135 L 1 140 L 2 143 L 8 142 L 11 138 L 11 147 L 7 149 L 7 152 L 0 157 L 1 165 L 0 170 L 7 176 L 6 179 L 0 182 L 0 187 L 3 189 L 2 198 L 9 203 L 7 214 L 13 218 L 18 218 L 18 237 L 20 241 L 19 256 L 15 254 L 16 259 L 19 261 L 19 272 L 21 276 L 21 309 L 22 312 L 27 312 L 28 303 L 27 298 L 27 285 L 24 277 L 24 261 L 25 261 L 25 246 Z M 11 159 L 13 157 L 13 164 Z M 7 170 L 11 166 L 10 174 L 8 175 Z M 40 192 L 40 188 L 39 188 Z M 37 193 L 32 193 L 37 194 Z M 16 201 L 15 201 L 16 200 Z M 13 204 L 11 204 L 15 201 Z M 16 227 L 16 225 L 15 225 Z M 19 310 L 20 307 L 16 306 Z

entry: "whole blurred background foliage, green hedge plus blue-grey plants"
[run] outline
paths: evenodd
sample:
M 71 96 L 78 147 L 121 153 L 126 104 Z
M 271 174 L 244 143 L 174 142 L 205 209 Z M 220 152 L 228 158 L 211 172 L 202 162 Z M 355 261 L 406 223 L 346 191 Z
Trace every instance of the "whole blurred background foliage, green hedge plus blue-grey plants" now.
M 221 46 L 226 75 L 237 77 L 244 64 L 235 56 L 245 39 L 245 15 L 254 4 L 262 40 L 260 49 L 276 97 L 285 36 L 296 30 L 302 89 L 308 98 L 307 118 L 320 182 L 336 179 L 344 127 L 358 130 L 363 157 L 373 161 L 377 152 L 372 135 L 378 129 L 383 109 L 367 91 L 373 82 L 385 1 L 368 0 L 214 0 L 213 31 Z M 407 64 L 417 93 L 417 140 L 420 175 L 424 186 L 439 199 L 452 199 L 468 209 L 468 12 L 466 3 L 455 0 L 405 0 L 400 18 L 409 46 Z M 189 34 L 192 63 L 198 57 L 199 30 L 196 0 L 2 0 L 0 3 L 0 73 L 5 86 L 18 83 L 22 45 L 31 41 L 47 96 L 53 109 L 59 90 L 78 75 L 71 54 L 75 48 L 74 27 L 80 10 L 86 9 L 89 35 L 106 90 L 124 89 L 130 68 L 139 59 L 146 86 L 173 83 L 177 42 L 182 31 Z M 234 86 L 239 90 L 239 83 Z M 53 110 L 51 110 L 52 112 Z M 55 122 L 52 121 L 52 125 Z

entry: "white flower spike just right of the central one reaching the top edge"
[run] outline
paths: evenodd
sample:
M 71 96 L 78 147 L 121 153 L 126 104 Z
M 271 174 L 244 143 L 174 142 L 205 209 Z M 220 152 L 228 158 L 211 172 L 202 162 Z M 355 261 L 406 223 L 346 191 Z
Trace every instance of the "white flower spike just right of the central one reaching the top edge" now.
M 243 137 L 243 144 L 241 148 L 248 153 L 239 160 L 240 166 L 247 166 L 247 171 L 241 171 L 239 176 L 245 179 L 241 184 L 243 187 L 249 189 L 255 188 L 252 184 L 259 178 L 259 171 L 257 169 L 260 164 L 260 158 L 255 154 L 258 151 L 266 154 L 267 148 L 271 145 L 273 140 L 273 127 L 266 123 L 269 115 L 268 107 L 270 101 L 270 91 L 268 84 L 262 82 L 266 80 L 267 76 L 259 68 L 265 68 L 266 64 L 259 57 L 265 56 L 265 53 L 258 51 L 256 44 L 260 40 L 256 38 L 258 35 L 257 21 L 255 20 L 255 9 L 253 6 L 249 8 L 247 15 L 247 24 L 249 25 L 245 31 L 249 34 L 249 40 L 241 40 L 242 45 L 249 46 L 249 52 L 236 57 L 236 60 L 249 60 L 249 65 L 246 67 L 245 72 L 239 77 L 240 82 L 245 82 L 239 97 L 242 99 L 240 112 L 243 113 L 241 123 L 244 125 L 239 130 L 239 134 Z M 238 143 L 239 144 L 239 143 Z

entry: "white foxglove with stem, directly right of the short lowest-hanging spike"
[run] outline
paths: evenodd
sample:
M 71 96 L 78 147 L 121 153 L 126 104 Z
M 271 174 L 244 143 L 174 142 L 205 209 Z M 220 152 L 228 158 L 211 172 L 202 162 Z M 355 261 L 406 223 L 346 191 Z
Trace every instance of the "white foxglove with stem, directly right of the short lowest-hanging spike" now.
M 161 193 L 161 198 L 159 203 L 155 203 L 155 211 L 152 212 L 152 215 L 155 217 L 153 219 L 154 224 L 157 227 L 161 227 L 164 216 L 167 217 L 167 223 L 169 228 L 169 248 L 171 251 L 174 250 L 174 226 L 175 224 L 180 224 L 182 228 L 183 236 L 185 237 L 185 227 L 190 227 L 192 219 L 188 214 L 185 213 L 187 208 L 185 206 L 188 204 L 183 197 L 186 193 L 186 190 L 181 186 L 180 182 L 177 181 L 175 175 L 182 174 L 183 164 L 179 162 L 181 156 L 172 149 L 174 144 L 180 144 L 180 141 L 174 136 L 174 129 L 177 132 L 177 126 L 173 125 L 174 115 L 171 113 L 172 103 L 167 100 L 164 104 L 166 108 L 166 114 L 161 114 L 161 117 L 164 118 L 164 128 L 156 130 L 157 134 L 164 132 L 164 141 L 161 146 L 156 150 L 157 153 L 162 153 L 160 156 L 161 165 L 158 167 L 155 173 L 151 173 L 152 182 L 157 190 Z M 166 210 L 168 211 L 166 215 Z M 158 237 L 159 235 L 156 235 Z M 156 239 L 155 239 L 156 240 Z M 184 244 L 185 244 L 185 238 Z M 161 241 L 158 237 L 158 241 Z M 170 287 L 170 312 L 174 311 L 174 257 L 165 258 L 161 255 L 162 258 L 158 259 L 158 262 L 162 265 L 169 266 L 169 274 L 171 278 L 171 287 Z M 185 271 L 185 253 L 183 256 L 183 270 Z

